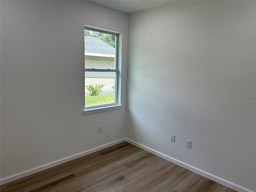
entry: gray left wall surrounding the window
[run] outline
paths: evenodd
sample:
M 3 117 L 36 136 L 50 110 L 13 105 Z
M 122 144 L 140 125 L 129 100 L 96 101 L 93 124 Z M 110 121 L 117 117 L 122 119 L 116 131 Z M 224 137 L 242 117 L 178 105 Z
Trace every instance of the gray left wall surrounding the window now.
M 122 109 L 83 115 L 84 25 L 122 33 Z M 128 14 L 85 1 L 1 1 L 1 178 L 126 136 L 127 51 Z

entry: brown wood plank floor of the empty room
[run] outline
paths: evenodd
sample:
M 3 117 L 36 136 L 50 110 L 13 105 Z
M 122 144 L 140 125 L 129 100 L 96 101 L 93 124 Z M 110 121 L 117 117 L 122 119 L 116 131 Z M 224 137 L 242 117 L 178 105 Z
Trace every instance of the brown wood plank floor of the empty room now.
M 123 142 L 1 186 L 1 192 L 235 192 Z

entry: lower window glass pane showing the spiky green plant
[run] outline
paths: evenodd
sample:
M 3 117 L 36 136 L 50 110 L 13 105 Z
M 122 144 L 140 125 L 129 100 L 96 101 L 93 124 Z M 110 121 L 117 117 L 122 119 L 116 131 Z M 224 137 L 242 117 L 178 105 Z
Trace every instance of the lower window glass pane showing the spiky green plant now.
M 85 72 L 85 106 L 115 103 L 116 72 Z

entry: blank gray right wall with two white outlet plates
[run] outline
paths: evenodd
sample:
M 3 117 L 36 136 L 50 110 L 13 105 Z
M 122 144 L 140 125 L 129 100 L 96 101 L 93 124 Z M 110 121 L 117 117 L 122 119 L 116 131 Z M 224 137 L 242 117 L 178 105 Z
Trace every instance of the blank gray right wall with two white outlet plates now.
M 256 2 L 131 14 L 128 63 L 128 138 L 256 191 Z

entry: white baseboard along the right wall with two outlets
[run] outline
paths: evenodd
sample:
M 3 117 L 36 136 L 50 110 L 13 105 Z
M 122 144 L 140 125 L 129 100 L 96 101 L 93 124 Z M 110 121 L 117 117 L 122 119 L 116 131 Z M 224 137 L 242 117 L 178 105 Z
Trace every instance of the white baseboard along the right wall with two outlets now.
M 246 188 L 244 188 L 244 187 L 242 187 L 242 186 L 239 186 L 239 185 L 237 185 L 237 184 L 234 184 L 234 183 L 232 183 L 232 182 L 230 182 L 230 181 L 227 181 L 227 180 L 225 180 L 225 179 L 222 179 L 222 178 L 220 178 L 220 177 L 218 177 L 218 176 L 215 176 L 215 175 L 213 175 L 213 174 L 210 174 L 210 173 L 208 173 L 208 172 L 205 172 L 204 170 L 201 170 L 201 169 L 198 169 L 198 168 L 196 168 L 196 167 L 194 167 L 194 166 L 191 166 L 191 165 L 189 165 L 189 164 L 186 164 L 186 163 L 184 163 L 184 162 L 182 162 L 182 161 L 180 161 L 180 160 L 177 160 L 177 159 L 175 159 L 175 158 L 172 158 L 172 157 L 170 157 L 170 156 L 168 156 L 168 155 L 166 155 L 166 154 L 163 154 L 163 153 L 161 153 L 161 152 L 158 152 L 158 151 L 156 151 L 156 150 L 154 150 L 154 149 L 152 149 L 152 148 L 149 148 L 149 147 L 147 147 L 147 146 L 145 146 L 145 145 L 142 145 L 142 144 L 140 144 L 140 143 L 138 143 L 138 142 L 135 142 L 135 141 L 133 141 L 133 140 L 131 140 L 131 139 L 125 138 L 125 141 L 128 142 L 128 143 L 130 143 L 130 144 L 133 144 L 133 145 L 135 145 L 135 146 L 137 146 L 137 147 L 139 147 L 139 148 L 142 148 L 142 149 L 144 149 L 144 150 L 146 150 L 146 151 L 148 151 L 148 152 L 150 152 L 150 153 L 152 153 L 152 154 L 155 154 L 156 156 L 159 156 L 159 157 L 161 157 L 161 158 L 163 158 L 163 159 L 165 159 L 165 160 L 168 160 L 168 161 L 170 161 L 170 162 L 172 162 L 172 163 L 174 163 L 174 164 L 177 164 L 177 165 L 179 165 L 179 166 L 181 166 L 181 167 L 184 167 L 184 168 L 186 168 L 186 169 L 188 169 L 188 170 L 190 170 L 190 171 L 192 171 L 192 172 L 195 172 L 195 173 L 197 173 L 197 174 L 199 174 L 199 175 L 202 175 L 202 176 L 204 176 L 204 177 L 206 177 L 206 178 L 208 178 L 208 179 L 210 179 L 210 180 L 213 180 L 213 181 L 215 181 L 215 182 L 217 182 L 217 183 L 220 183 L 220 184 L 222 184 L 222 185 L 224 185 L 224 186 L 227 186 L 228 188 L 231 188 L 231 189 L 233 189 L 233 190 L 236 190 L 236 191 L 238 191 L 238 192 L 253 192 L 252 190 L 246 189 Z

